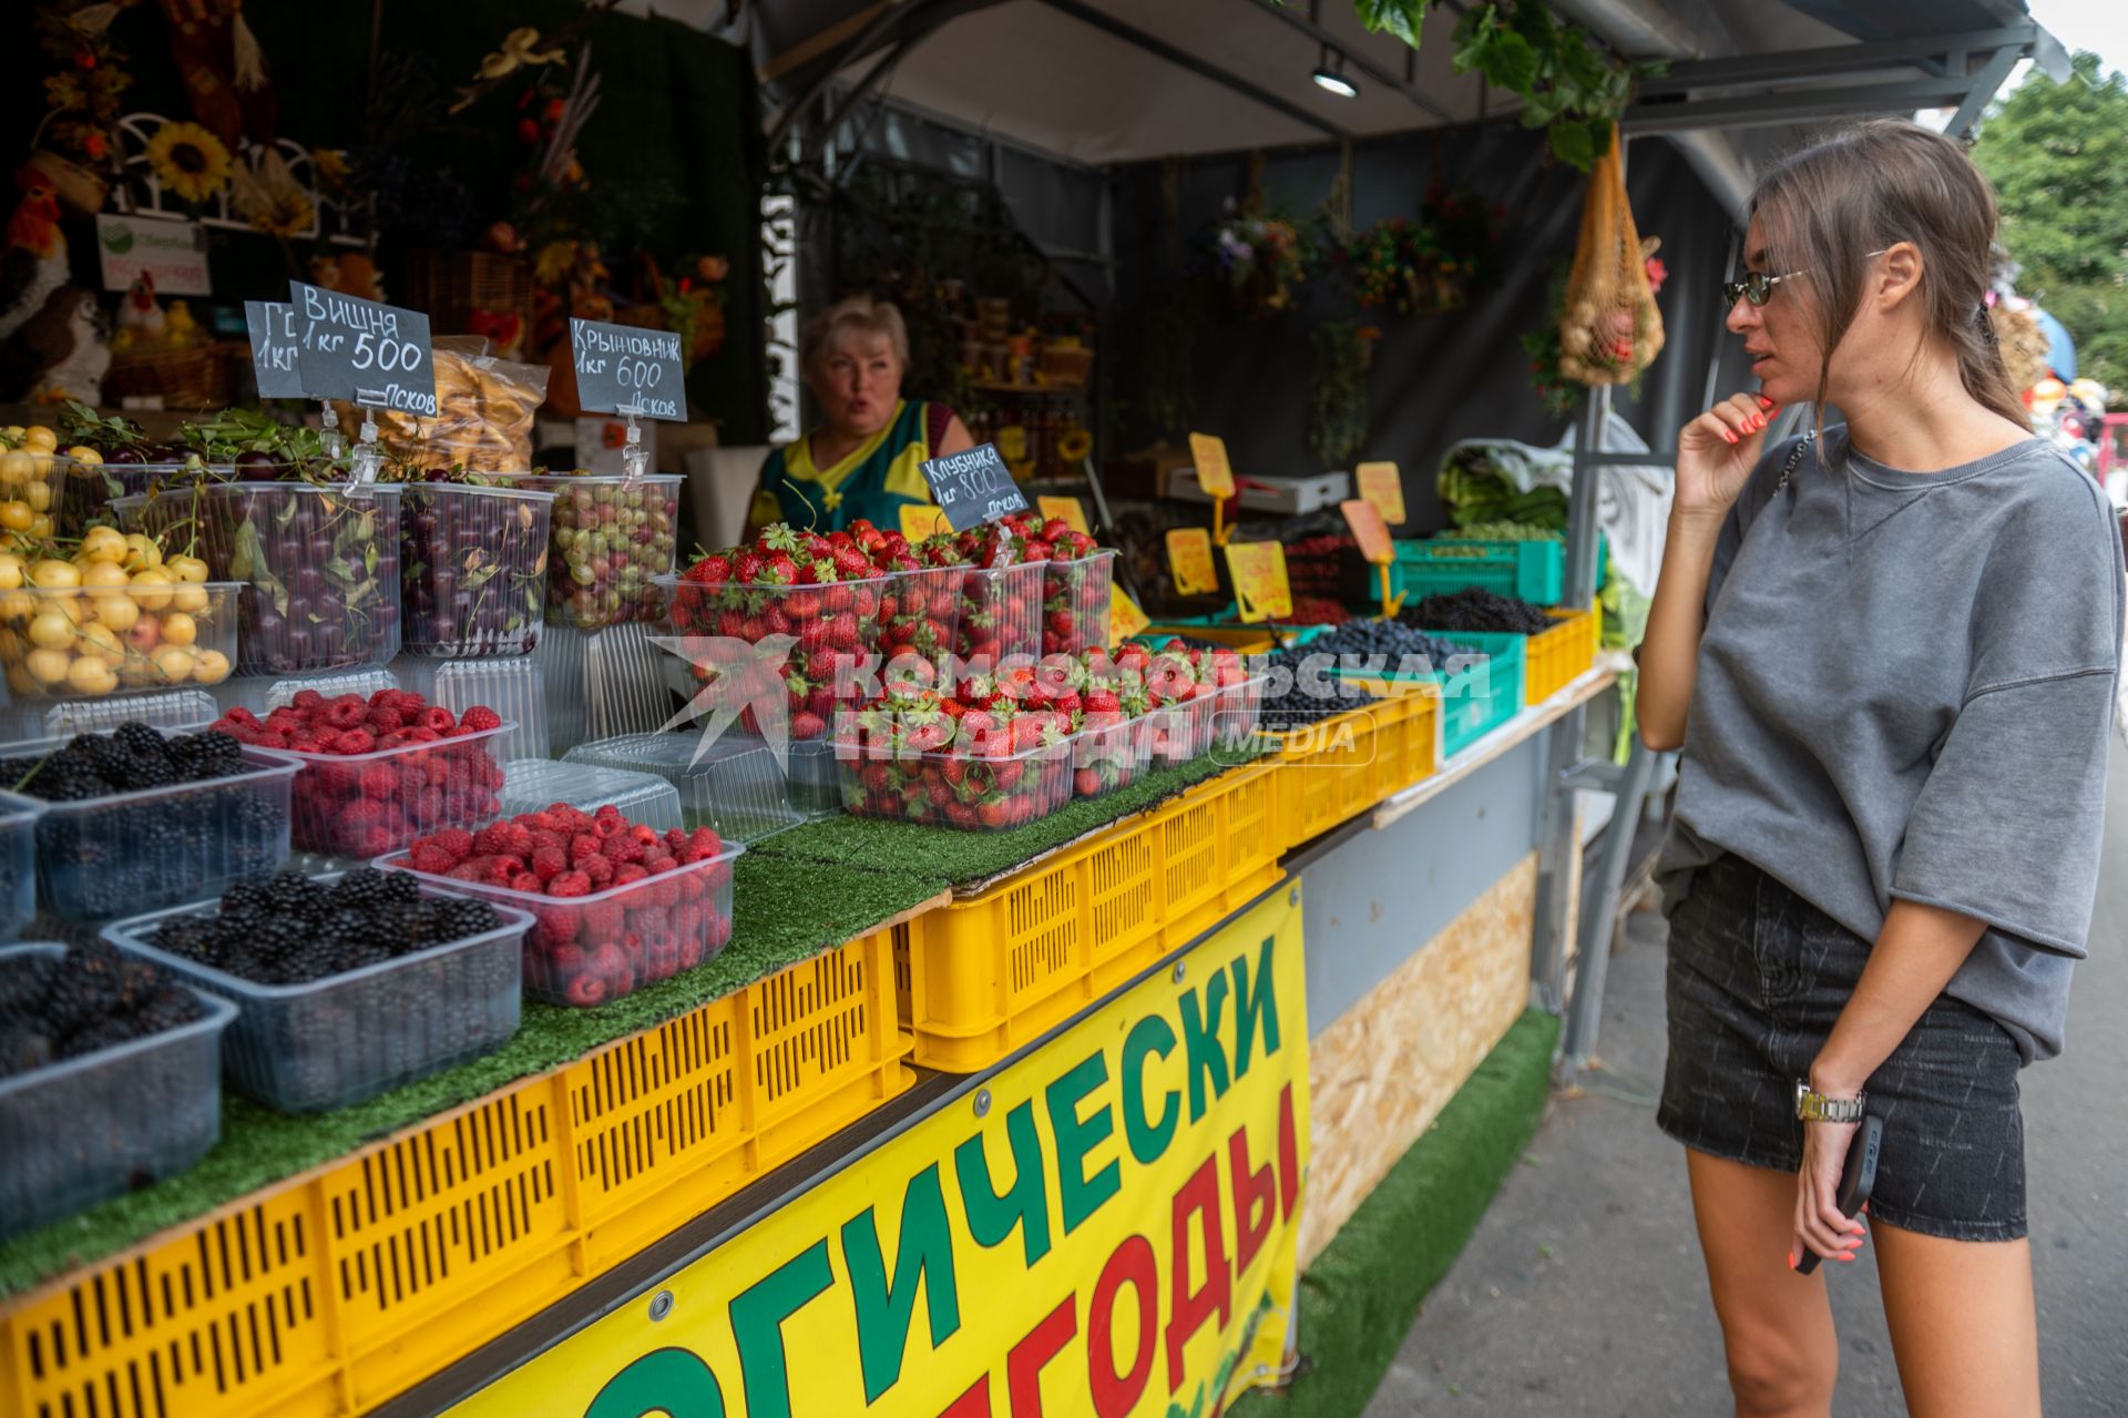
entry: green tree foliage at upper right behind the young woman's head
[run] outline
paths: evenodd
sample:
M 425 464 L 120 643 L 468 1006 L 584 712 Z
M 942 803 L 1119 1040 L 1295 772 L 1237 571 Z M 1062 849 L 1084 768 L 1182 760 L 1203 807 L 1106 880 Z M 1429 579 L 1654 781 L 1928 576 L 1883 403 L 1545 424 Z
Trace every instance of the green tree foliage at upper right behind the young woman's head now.
M 2079 373 L 2128 396 L 2128 79 L 2079 51 L 2032 70 L 1981 123 L 1973 160 L 2002 204 L 2002 245 L 2077 341 Z

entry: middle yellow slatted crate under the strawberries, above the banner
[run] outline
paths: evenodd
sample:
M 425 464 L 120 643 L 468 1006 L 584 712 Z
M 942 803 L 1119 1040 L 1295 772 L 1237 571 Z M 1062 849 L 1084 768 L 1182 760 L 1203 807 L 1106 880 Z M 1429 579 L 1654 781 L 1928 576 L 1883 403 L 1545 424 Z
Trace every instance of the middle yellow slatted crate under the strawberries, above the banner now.
M 1277 884 L 1273 781 L 1221 773 L 898 928 L 915 1062 L 985 1069 Z

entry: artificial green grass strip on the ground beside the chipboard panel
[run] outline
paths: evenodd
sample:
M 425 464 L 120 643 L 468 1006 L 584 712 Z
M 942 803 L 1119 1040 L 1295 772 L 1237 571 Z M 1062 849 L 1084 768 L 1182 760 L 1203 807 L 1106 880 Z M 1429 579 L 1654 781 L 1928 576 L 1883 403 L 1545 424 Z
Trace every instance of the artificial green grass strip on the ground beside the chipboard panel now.
M 1234 1418 L 1353 1418 L 1536 1135 L 1558 1018 L 1526 1011 L 1300 1277 L 1307 1373 L 1251 1392 Z

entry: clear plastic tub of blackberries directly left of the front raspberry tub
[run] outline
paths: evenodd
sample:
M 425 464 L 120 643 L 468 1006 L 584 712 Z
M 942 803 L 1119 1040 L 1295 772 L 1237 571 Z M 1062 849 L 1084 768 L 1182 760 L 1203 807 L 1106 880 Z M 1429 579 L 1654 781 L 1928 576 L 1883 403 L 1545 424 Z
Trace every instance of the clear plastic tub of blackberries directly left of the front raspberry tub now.
M 336 881 L 340 873 L 319 875 Z M 453 886 L 460 886 L 453 881 Z M 423 896 L 462 896 L 426 881 Z M 532 916 L 496 905 L 502 924 L 394 960 L 272 986 L 219 971 L 155 945 L 174 916 L 213 916 L 183 905 L 104 926 L 119 950 L 153 960 L 194 990 L 236 1007 L 221 1035 L 221 1062 L 247 1099 L 279 1114 L 319 1114 L 375 1099 L 500 1048 L 517 1033 L 523 941 Z

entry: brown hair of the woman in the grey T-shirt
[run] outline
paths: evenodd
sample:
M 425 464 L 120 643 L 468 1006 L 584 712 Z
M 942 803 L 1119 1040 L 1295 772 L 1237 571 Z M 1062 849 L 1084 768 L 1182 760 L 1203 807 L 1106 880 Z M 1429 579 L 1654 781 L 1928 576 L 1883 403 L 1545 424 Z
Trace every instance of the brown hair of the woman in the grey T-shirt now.
M 1958 356 L 1966 394 L 2019 428 L 2032 419 L 2011 385 L 1988 324 L 1996 202 L 1964 147 L 1902 119 L 1845 128 L 1766 172 L 1751 194 L 1775 275 L 1807 273 L 1819 349 L 1824 422 L 1832 351 L 1853 324 L 1868 283 L 1868 253 L 1898 241 L 1922 251 L 1928 332 Z

